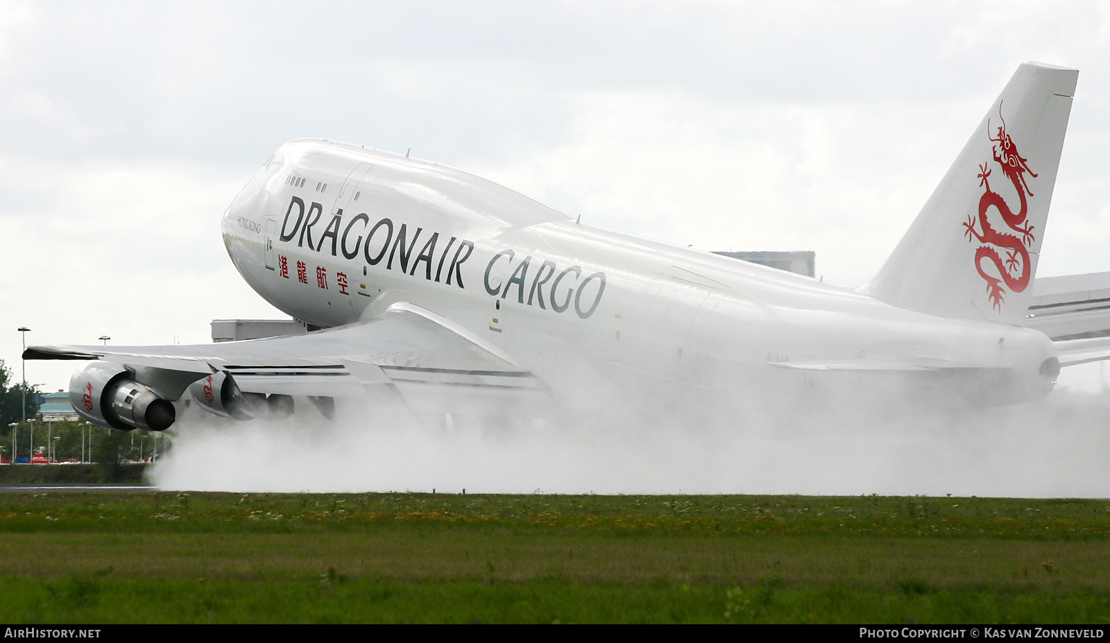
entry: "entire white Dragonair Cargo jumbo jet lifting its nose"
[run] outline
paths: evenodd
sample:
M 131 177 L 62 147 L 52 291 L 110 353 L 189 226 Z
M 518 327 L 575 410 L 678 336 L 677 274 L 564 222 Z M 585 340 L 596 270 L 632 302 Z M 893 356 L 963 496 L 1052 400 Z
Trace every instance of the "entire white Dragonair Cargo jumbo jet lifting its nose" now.
M 33 345 L 85 361 L 85 419 L 164 430 L 183 395 L 280 418 L 336 398 L 416 413 L 900 391 L 1043 396 L 1110 340 L 1027 328 L 1078 71 L 1021 64 L 889 259 L 850 289 L 579 223 L 434 162 L 282 145 L 235 197 L 240 274 L 312 332 L 208 345 Z

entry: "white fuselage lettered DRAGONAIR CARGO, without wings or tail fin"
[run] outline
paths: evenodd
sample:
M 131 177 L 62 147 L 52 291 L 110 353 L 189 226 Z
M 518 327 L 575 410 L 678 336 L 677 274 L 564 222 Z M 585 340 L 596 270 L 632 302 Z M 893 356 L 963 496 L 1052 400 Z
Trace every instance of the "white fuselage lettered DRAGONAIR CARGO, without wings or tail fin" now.
M 334 326 L 411 302 L 496 345 L 556 393 L 596 375 L 626 393 L 763 398 L 844 376 L 776 364 L 924 356 L 992 374 L 977 381 L 971 368 L 902 383 L 1006 403 L 1046 394 L 1054 376 L 1039 372 L 1053 349 L 1036 331 L 911 312 L 578 224 L 460 170 L 356 145 L 283 145 L 229 207 L 223 239 L 251 288 L 296 319 Z

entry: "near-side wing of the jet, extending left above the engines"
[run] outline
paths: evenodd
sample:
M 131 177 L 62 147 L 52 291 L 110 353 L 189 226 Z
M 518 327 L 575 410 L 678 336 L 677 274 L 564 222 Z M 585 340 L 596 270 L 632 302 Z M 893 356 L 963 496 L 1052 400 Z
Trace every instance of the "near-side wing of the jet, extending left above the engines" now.
M 496 346 L 408 303 L 381 317 L 307 334 L 195 345 L 32 345 L 29 360 L 101 360 L 127 366 L 169 400 L 211 374 L 243 393 L 357 398 L 383 391 L 413 410 L 481 412 L 488 399 L 539 384 Z

